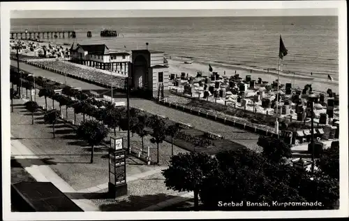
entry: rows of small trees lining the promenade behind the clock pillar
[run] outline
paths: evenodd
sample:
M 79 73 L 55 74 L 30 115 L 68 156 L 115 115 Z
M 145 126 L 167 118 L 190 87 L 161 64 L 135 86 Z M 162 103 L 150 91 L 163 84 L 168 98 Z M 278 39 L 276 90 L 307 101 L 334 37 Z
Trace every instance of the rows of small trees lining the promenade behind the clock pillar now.
M 19 78 L 19 76 L 17 76 Z M 31 82 L 34 82 L 33 76 L 26 76 L 24 74 L 22 76 L 24 78 L 24 85 L 31 85 Z M 89 115 L 94 117 L 94 122 L 98 122 L 103 127 L 107 126 L 108 129 L 114 130 L 114 135 L 116 135 L 116 129 L 119 127 L 119 131 L 127 130 L 128 128 L 128 119 L 126 114 L 126 108 L 124 107 L 115 107 L 107 101 L 100 101 L 94 98 L 89 97 L 84 92 L 79 90 L 75 90 L 71 87 L 64 87 L 62 89 L 62 94 L 57 94 L 54 90 L 59 89 L 60 84 L 54 83 L 49 79 L 36 77 L 36 85 L 39 85 L 41 89 L 38 92 L 39 97 L 45 97 L 45 108 L 47 108 L 47 98 L 52 99 L 52 108 L 49 113 L 56 113 L 52 115 L 47 115 L 50 120 L 46 120 L 46 122 L 56 122 L 56 117 L 61 115 L 61 107 L 66 106 L 66 117 L 68 117 L 68 108 L 73 108 L 74 110 L 74 121 L 76 122 L 76 115 L 81 113 L 83 115 L 83 123 L 80 125 L 83 129 L 82 131 L 86 131 L 86 125 L 91 125 L 89 121 L 88 124 L 85 123 L 85 115 Z M 13 80 L 13 82 L 18 84 L 18 80 Z M 29 87 L 29 86 L 28 86 Z M 60 110 L 54 109 L 54 101 L 59 102 Z M 33 113 L 33 124 L 34 124 L 34 112 L 38 110 L 38 104 L 36 102 L 31 102 L 28 104 L 27 108 L 31 113 Z M 95 125 L 96 123 L 93 123 Z M 99 124 L 98 124 L 99 125 Z M 54 128 L 54 125 L 53 125 Z M 178 134 L 181 127 L 179 124 L 167 125 L 162 117 L 158 117 L 156 115 L 149 115 L 142 113 L 139 109 L 131 108 L 130 110 L 130 130 L 132 134 L 138 134 L 142 138 L 142 152 L 144 152 L 144 136 L 151 135 L 151 142 L 156 143 L 157 152 L 159 148 L 159 144 L 163 143 L 166 136 L 171 136 L 172 138 L 172 155 L 173 155 L 173 138 Z M 96 126 L 95 132 L 100 133 L 101 127 Z M 81 134 L 81 133 L 80 133 Z M 102 133 L 103 134 L 103 133 Z M 54 134 L 55 136 L 55 134 Z M 107 136 L 107 134 L 103 137 L 103 139 Z M 82 138 L 83 136 L 80 136 Z M 91 136 L 88 136 L 91 137 Z M 101 142 L 103 141 L 101 140 Z M 88 141 L 89 142 L 89 141 Z M 92 147 L 96 145 L 96 143 L 90 143 Z M 94 148 L 92 148 L 93 150 Z M 91 153 L 93 158 L 93 151 Z M 91 159 L 91 162 L 93 160 Z M 159 162 L 159 155 L 157 156 L 157 162 Z

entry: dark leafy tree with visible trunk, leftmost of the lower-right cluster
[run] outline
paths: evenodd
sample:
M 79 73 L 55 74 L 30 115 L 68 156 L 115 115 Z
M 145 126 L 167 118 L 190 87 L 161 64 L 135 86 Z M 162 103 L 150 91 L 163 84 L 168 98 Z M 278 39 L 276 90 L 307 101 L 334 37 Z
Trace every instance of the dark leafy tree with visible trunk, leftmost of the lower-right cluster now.
M 179 153 L 172 156 L 170 166 L 163 170 L 165 185 L 169 189 L 194 192 L 195 209 L 199 206 L 199 193 L 203 180 L 215 170 L 216 159 L 202 152 Z

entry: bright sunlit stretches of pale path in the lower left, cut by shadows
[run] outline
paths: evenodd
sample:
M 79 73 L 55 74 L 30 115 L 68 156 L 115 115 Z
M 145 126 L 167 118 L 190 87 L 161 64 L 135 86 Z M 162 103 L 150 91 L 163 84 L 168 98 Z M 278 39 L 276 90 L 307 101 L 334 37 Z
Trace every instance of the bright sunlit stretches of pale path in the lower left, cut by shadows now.
M 12 137 L 12 135 L 11 135 Z M 29 148 L 20 143 L 20 141 L 12 140 L 11 141 L 11 154 L 15 155 L 15 159 L 26 159 L 26 155 L 30 158 L 39 158 L 34 155 L 34 152 L 31 152 Z M 22 165 L 24 169 L 38 182 L 51 182 L 55 185 L 61 192 L 76 192 L 66 181 L 54 173 L 50 166 L 47 165 L 31 165 L 25 166 Z M 99 208 L 94 205 L 88 199 L 71 199 L 77 206 L 80 206 L 83 211 L 99 211 Z

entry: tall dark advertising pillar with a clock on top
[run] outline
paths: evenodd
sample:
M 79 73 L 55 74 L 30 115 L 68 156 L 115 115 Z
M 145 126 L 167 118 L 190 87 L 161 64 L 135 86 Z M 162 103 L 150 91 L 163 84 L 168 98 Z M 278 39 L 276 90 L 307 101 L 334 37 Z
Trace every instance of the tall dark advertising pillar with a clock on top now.
M 127 194 L 126 155 L 122 137 L 110 137 L 108 192 L 112 198 Z

